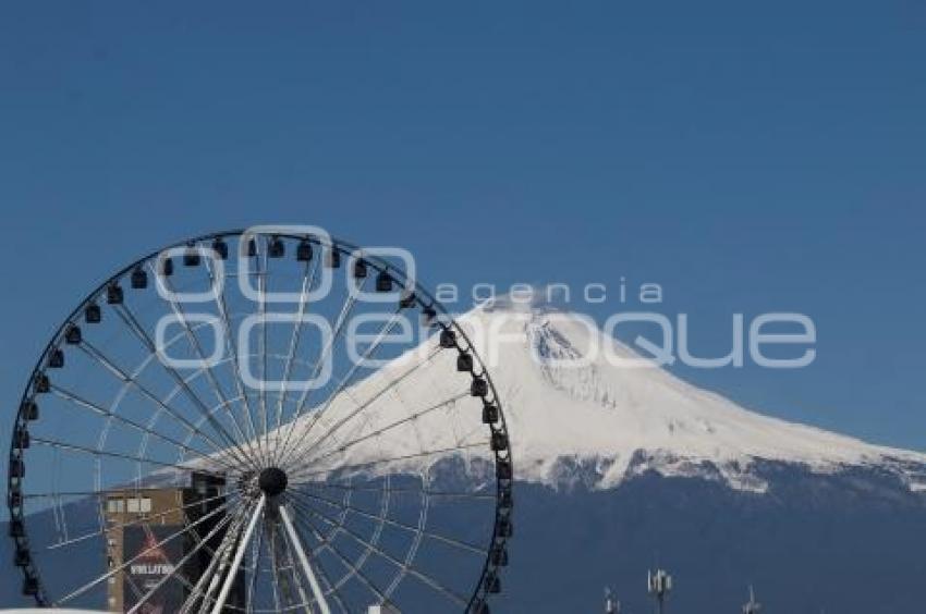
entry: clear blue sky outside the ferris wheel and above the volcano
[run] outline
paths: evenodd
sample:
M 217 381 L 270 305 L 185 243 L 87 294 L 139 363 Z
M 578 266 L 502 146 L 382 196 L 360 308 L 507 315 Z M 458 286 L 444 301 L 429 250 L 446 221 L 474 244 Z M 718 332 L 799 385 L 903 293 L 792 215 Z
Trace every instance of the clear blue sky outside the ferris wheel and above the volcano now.
M 915 0 L 4 3 L 3 430 L 115 267 L 298 222 L 431 283 L 658 282 L 705 353 L 806 312 L 812 368 L 679 372 L 926 450 L 924 58 Z

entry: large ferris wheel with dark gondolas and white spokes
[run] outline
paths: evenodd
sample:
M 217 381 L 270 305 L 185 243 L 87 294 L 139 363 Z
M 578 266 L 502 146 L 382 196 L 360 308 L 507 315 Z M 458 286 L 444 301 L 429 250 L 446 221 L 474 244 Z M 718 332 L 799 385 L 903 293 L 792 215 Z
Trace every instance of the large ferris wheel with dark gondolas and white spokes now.
M 412 268 L 259 226 L 90 292 L 13 425 L 23 593 L 133 613 L 487 613 L 512 535 L 504 415 Z

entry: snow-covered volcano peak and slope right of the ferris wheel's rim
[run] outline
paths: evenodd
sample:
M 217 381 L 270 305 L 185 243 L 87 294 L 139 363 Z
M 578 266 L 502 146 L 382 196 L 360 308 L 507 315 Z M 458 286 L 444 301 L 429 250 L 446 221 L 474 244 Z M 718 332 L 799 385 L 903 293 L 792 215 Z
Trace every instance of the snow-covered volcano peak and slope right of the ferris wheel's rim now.
M 623 363 L 641 356 L 587 318 L 546 308 L 483 307 L 461 319 L 491 357 L 521 477 L 558 478 L 563 458 L 594 465 L 608 488 L 630 475 L 715 475 L 750 490 L 764 484 L 755 461 L 806 465 L 814 471 L 878 465 L 919 488 L 926 455 L 870 445 L 821 429 L 744 409 L 657 367 Z M 501 341 L 499 341 L 501 337 Z M 497 349 L 494 349 L 497 347 Z M 593 347 L 597 351 L 593 352 Z M 570 364 L 581 356 L 590 360 Z M 926 480 L 924 480 L 926 481 Z

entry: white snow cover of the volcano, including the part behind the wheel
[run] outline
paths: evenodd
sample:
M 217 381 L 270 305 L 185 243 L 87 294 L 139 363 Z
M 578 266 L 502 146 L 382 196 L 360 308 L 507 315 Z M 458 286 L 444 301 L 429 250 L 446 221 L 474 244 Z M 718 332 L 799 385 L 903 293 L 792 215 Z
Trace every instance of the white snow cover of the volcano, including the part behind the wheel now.
M 509 303 L 474 309 L 458 321 L 489 365 L 522 480 L 558 486 L 576 479 L 578 471 L 585 483 L 607 489 L 653 470 L 760 492 L 767 484 L 754 467 L 759 461 L 772 461 L 813 472 L 877 467 L 911 490 L 926 488 L 926 455 L 748 412 L 661 369 L 616 366 L 607 356 L 639 357 L 578 316 Z M 595 344 L 597 353 L 592 352 Z M 389 456 L 401 456 L 403 451 L 412 456 L 484 441 L 479 403 L 465 393 L 468 376 L 455 372 L 455 353 L 437 352 L 424 367 L 414 368 L 434 352 L 436 340 L 431 339 L 349 389 L 325 413 L 321 426 L 334 427 L 327 441 L 317 441 L 314 433 L 325 430 L 317 428 L 300 440 L 313 419 L 312 414 L 304 417 L 295 435 L 303 449 L 334 451 L 344 442 L 362 440 L 326 453 L 316 467 L 360 470 L 362 464 L 382 458 L 383 451 Z M 596 356 L 582 365 L 563 363 L 592 354 Z M 377 396 L 397 377 L 401 382 Z M 459 398 L 453 403 L 435 407 L 454 395 Z M 365 419 L 352 418 L 364 403 L 369 403 Z M 476 447 L 462 454 L 472 458 L 485 452 Z M 417 470 L 440 456 L 412 457 L 388 468 Z M 386 467 L 363 470 L 380 468 Z

